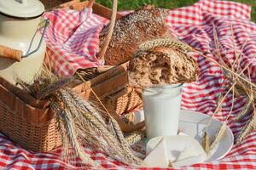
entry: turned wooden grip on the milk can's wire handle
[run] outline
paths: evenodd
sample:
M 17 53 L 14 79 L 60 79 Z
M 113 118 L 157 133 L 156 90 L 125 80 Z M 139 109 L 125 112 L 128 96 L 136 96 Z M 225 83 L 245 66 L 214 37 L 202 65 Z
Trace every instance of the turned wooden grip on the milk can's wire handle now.
M 0 45 L 0 58 L 4 59 L 12 59 L 14 61 L 21 61 L 23 52 L 15 49 L 15 48 L 9 48 L 4 45 Z

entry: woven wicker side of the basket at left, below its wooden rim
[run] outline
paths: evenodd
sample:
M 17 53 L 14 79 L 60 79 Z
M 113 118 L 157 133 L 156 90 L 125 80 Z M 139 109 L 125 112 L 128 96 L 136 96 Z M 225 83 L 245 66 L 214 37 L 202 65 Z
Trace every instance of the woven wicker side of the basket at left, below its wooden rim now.
M 23 148 L 32 151 L 49 151 L 61 144 L 55 127 L 55 119 L 44 123 L 32 123 L 17 116 L 8 105 L 0 101 L 0 129 Z

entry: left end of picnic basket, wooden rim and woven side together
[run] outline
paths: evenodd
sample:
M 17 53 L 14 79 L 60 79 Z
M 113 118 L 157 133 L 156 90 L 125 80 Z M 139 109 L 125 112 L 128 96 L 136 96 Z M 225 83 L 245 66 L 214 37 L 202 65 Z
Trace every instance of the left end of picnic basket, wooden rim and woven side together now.
M 49 151 L 61 144 L 51 111 L 26 105 L 0 85 L 0 130 L 27 150 Z

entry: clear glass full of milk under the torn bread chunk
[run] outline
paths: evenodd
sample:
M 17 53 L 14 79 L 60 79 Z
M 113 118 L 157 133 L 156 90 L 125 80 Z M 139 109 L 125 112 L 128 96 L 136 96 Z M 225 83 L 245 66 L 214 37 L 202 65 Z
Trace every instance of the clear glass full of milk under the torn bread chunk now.
M 147 138 L 177 135 L 183 84 L 143 90 Z

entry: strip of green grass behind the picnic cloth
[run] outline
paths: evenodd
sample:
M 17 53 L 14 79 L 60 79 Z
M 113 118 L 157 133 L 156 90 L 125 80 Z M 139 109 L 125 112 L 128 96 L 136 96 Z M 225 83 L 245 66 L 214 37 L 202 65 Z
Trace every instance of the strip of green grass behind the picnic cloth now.
M 253 7 L 252 20 L 256 22 L 256 0 L 233 0 L 239 3 L 247 3 Z M 96 0 L 97 3 L 110 8 L 112 0 Z M 155 7 L 160 8 L 179 8 L 188 6 L 197 2 L 197 0 L 119 0 L 119 10 L 135 9 L 143 5 L 154 4 Z

